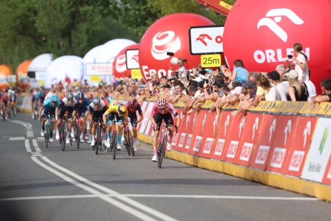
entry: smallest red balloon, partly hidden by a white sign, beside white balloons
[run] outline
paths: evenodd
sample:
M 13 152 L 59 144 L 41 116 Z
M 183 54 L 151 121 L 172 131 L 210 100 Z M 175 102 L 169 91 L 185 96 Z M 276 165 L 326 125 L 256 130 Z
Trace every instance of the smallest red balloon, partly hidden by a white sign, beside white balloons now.
M 126 48 L 123 48 L 119 54 L 115 57 L 114 63 L 112 64 L 112 75 L 114 77 L 123 77 L 126 73 L 126 77 L 130 76 L 131 70 L 126 69 L 126 50 L 139 49 L 140 44 L 133 44 Z M 139 57 L 130 57 L 128 59 L 135 59 L 139 61 Z

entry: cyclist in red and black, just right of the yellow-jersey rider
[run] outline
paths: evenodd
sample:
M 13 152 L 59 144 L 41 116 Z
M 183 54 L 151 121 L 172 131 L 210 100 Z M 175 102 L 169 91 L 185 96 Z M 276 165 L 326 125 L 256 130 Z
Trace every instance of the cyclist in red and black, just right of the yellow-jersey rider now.
M 137 125 L 143 119 L 143 111 L 141 111 L 141 106 L 137 99 L 132 99 L 130 102 L 126 103 L 126 108 L 128 109 L 128 115 L 132 125 L 134 151 L 137 151 Z M 138 119 L 137 111 L 139 113 Z

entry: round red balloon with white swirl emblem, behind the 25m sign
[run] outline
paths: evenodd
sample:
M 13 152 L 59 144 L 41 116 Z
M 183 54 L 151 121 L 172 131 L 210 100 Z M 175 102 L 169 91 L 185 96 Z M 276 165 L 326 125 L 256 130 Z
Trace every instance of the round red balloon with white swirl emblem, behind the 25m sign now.
M 212 26 L 209 19 L 192 13 L 177 13 L 167 15 L 155 21 L 141 39 L 139 48 L 139 64 L 144 79 L 150 78 L 152 73 L 157 73 L 159 79 L 162 75 L 174 75 L 170 67 L 171 57 L 167 52 L 173 52 L 177 58 L 187 59 L 185 68 L 198 66 L 201 55 L 190 55 L 190 41 L 188 30 L 192 26 Z M 175 61 L 175 59 L 174 59 Z

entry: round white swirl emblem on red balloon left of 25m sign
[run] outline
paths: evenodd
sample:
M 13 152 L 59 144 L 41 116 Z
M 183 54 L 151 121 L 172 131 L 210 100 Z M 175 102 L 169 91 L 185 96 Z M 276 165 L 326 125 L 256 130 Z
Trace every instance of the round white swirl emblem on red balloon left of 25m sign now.
M 153 37 L 150 52 L 154 59 L 165 60 L 169 58 L 167 52 L 176 53 L 179 49 L 181 49 L 181 41 L 179 37 L 176 37 L 172 30 L 168 30 L 165 32 L 158 32 L 157 35 Z

